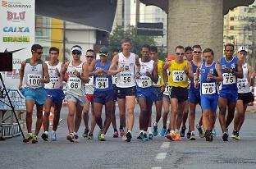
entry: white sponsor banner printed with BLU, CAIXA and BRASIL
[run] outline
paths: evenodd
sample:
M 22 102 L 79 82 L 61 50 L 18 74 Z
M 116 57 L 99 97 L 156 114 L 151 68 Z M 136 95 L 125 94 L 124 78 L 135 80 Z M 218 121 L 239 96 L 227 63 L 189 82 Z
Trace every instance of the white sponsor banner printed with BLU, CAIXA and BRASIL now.
M 22 105 L 25 109 L 25 102 L 22 95 L 14 89 L 19 85 L 21 62 L 31 57 L 31 46 L 34 44 L 34 10 L 35 0 L 1 0 L 0 52 L 13 53 L 13 71 L 1 73 L 7 89 L 12 91 L 11 100 L 18 109 L 22 109 Z M 2 103 L 0 109 L 6 109 Z

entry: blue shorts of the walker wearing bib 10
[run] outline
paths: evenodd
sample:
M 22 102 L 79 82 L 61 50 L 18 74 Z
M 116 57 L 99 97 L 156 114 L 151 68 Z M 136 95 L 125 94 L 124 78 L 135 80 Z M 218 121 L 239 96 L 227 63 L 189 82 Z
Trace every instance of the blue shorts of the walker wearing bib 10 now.
M 153 86 L 149 88 L 137 88 L 137 98 L 146 98 L 149 102 L 155 102 L 158 100 L 158 92 Z

